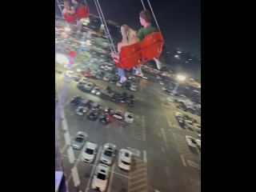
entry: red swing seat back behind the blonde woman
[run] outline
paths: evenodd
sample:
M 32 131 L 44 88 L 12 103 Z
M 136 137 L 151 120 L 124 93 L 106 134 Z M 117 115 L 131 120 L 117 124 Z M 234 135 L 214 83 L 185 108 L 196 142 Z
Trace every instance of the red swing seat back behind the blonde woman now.
M 134 43 L 130 46 L 122 46 L 119 53 L 119 62 L 116 62 L 116 66 L 130 70 L 134 66 L 138 66 L 141 58 L 140 43 Z

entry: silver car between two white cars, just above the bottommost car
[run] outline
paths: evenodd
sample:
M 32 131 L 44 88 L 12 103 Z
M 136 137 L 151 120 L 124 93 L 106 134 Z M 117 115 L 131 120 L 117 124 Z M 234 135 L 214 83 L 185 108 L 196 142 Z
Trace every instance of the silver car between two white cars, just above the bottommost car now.
M 106 165 L 112 165 L 116 153 L 116 146 L 111 143 L 106 143 L 102 149 L 100 161 Z

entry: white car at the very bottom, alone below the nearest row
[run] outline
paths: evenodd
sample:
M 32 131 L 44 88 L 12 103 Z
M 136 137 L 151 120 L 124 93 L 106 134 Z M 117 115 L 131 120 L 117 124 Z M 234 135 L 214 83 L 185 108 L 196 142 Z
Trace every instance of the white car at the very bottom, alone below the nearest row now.
M 99 163 L 94 172 L 94 177 L 91 182 L 91 188 L 98 188 L 102 192 L 105 191 L 109 177 L 110 167 Z

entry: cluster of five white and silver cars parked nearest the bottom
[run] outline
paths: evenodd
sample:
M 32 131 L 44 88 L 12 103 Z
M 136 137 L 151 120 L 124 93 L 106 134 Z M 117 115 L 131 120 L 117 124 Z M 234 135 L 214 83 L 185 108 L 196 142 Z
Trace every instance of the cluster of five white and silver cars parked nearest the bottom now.
M 94 177 L 91 182 L 92 189 L 99 189 L 105 191 L 108 180 L 110 178 L 110 166 L 114 163 L 114 158 L 118 153 L 117 147 L 112 143 L 106 143 L 101 151 L 98 151 L 98 144 L 95 142 L 89 142 L 88 134 L 83 131 L 79 131 L 76 137 L 72 140 L 72 147 L 75 150 L 83 150 L 81 160 L 82 162 L 93 163 L 98 152 L 100 152 L 100 158 L 98 166 L 96 166 Z M 85 147 L 83 148 L 83 146 Z M 133 154 L 130 150 L 121 149 L 118 153 L 118 166 L 122 170 L 130 170 L 132 164 Z

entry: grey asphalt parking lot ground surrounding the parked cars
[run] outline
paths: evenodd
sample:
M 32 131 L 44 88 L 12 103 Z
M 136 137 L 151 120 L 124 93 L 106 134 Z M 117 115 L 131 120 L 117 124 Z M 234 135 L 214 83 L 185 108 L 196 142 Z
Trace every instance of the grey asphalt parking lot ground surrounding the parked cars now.
M 82 150 L 73 150 L 70 141 L 79 130 L 85 131 L 88 141 L 98 144 L 100 149 L 106 142 L 112 142 L 117 149 L 128 149 L 134 153 L 133 168 L 130 172 L 120 170 L 118 159 L 111 166 L 111 176 L 106 191 L 200 191 L 200 151 L 191 150 L 186 145 L 185 135 L 196 137 L 197 133 L 183 130 L 174 118 L 178 111 L 171 104 L 165 105 L 166 96 L 159 94 L 161 85 L 154 75 L 138 82 L 136 92 L 98 79 L 90 79 L 102 89 L 111 86 L 113 90 L 134 94 L 137 103 L 134 107 L 126 103 L 113 102 L 78 90 L 77 82 L 71 81 L 63 106 L 62 125 L 59 128 L 59 145 L 69 189 L 74 191 L 94 191 L 90 188 L 91 174 L 98 159 L 93 164 L 81 162 Z M 56 74 L 56 90 L 62 90 L 63 75 Z M 146 81 L 146 82 L 145 82 Z M 143 86 L 141 86 L 143 85 Z M 134 123 L 126 125 L 118 121 L 103 126 L 96 121 L 79 118 L 74 114 L 76 107 L 70 106 L 74 95 L 82 95 L 103 107 L 129 111 L 135 114 Z M 176 122 L 175 122 L 176 121 Z M 63 128 L 64 127 L 64 128 Z M 68 134 L 67 134 L 68 133 Z M 98 152 L 99 154 L 99 152 Z

